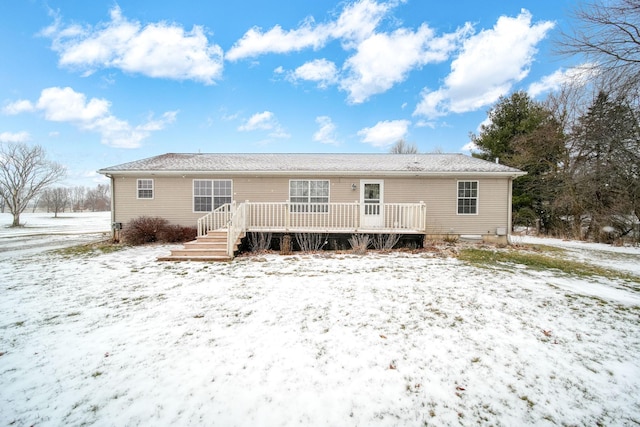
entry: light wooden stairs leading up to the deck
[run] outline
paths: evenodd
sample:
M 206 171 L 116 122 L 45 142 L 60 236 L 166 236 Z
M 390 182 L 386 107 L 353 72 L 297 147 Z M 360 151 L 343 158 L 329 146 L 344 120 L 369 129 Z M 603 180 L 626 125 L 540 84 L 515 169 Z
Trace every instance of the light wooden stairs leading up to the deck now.
M 241 235 L 236 241 L 234 253 L 238 250 Z M 231 261 L 227 254 L 227 232 L 209 231 L 205 236 L 187 242 L 182 249 L 174 249 L 171 255 L 158 257 L 158 261 Z

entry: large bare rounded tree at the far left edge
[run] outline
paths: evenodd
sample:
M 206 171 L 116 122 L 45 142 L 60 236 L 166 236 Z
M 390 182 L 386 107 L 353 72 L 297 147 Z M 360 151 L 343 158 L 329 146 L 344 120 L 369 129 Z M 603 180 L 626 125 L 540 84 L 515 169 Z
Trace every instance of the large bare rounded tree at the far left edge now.
M 44 149 L 21 143 L 0 146 L 0 197 L 13 215 L 12 227 L 20 225 L 20 214 L 31 199 L 65 175 L 59 163 L 47 160 Z

